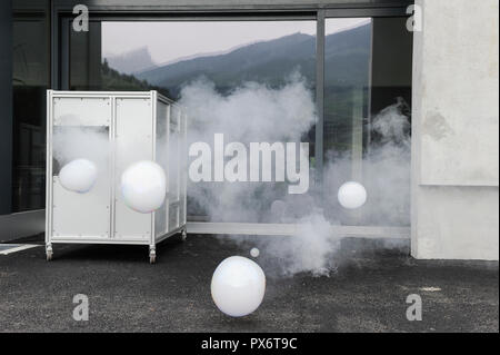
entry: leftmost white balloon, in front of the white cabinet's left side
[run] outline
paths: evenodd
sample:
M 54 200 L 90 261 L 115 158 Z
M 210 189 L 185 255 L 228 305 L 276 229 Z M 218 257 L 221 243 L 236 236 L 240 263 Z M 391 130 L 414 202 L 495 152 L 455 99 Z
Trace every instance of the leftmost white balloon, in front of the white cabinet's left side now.
M 67 190 L 84 194 L 96 184 L 97 174 L 97 166 L 92 161 L 74 159 L 59 171 L 59 183 Z

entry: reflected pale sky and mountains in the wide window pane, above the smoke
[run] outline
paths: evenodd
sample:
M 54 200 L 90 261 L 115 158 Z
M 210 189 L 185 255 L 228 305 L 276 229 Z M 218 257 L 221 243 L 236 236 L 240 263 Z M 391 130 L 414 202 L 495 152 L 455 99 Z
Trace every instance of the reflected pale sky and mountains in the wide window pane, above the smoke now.
M 313 82 L 314 33 L 313 21 L 103 22 L 102 60 L 173 98 L 200 76 L 222 92 L 279 86 L 294 69 Z

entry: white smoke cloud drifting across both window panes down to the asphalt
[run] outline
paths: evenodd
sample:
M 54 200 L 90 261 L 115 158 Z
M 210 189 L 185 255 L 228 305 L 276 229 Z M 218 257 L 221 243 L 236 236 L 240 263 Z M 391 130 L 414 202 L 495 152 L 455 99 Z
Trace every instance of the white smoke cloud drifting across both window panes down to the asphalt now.
M 211 145 L 213 135 L 220 132 L 226 142 L 300 141 L 316 122 L 312 92 L 297 73 L 279 88 L 247 82 L 228 95 L 200 79 L 182 89 L 180 103 L 188 111 L 190 142 Z M 188 198 L 211 221 L 298 224 L 296 236 L 224 238 L 251 240 L 261 250 L 259 260 L 272 265 L 274 274 L 329 275 L 337 266 L 342 237 L 332 233 L 332 226 L 409 224 L 409 127 L 401 100 L 366 127 L 373 141 L 362 158 L 359 183 L 368 190 L 368 201 L 359 210 L 348 211 L 337 201 L 338 188 L 352 179 L 352 158 L 334 151 L 326 154 L 334 158 L 327 159 L 321 190 L 288 195 L 282 183 L 189 183 Z

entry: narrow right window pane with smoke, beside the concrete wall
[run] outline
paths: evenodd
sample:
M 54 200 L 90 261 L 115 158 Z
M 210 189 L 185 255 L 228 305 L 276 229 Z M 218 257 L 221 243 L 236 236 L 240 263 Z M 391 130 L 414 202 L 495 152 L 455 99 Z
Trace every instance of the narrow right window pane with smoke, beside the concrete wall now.
M 406 18 L 326 20 L 324 206 L 330 219 L 410 224 L 411 62 Z M 351 180 L 368 193 L 354 210 L 337 199 L 340 186 Z

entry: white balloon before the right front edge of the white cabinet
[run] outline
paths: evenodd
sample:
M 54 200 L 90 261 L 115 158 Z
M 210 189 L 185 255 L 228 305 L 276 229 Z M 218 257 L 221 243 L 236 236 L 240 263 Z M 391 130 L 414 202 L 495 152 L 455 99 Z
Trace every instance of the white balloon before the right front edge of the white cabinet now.
M 121 194 L 136 211 L 149 214 L 160 208 L 167 194 L 163 169 L 150 160 L 132 164 L 121 175 Z

